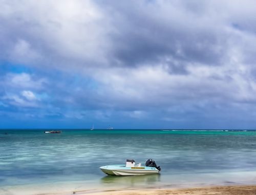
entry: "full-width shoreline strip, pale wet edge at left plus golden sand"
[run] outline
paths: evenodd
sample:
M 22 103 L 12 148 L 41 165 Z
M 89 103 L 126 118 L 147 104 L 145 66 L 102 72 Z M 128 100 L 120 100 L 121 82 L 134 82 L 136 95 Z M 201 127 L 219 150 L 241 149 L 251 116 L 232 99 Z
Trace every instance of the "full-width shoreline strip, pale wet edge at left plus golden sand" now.
M 0 193 L 3 195 L 255 195 L 256 182 L 253 184 L 232 184 L 232 185 L 200 185 L 187 187 L 160 187 L 160 186 L 144 186 L 144 187 L 111 187 L 101 188 L 80 186 L 77 189 L 72 189 L 72 186 L 55 186 L 56 188 L 30 188 L 29 186 L 20 185 L 17 188 L 0 188 Z

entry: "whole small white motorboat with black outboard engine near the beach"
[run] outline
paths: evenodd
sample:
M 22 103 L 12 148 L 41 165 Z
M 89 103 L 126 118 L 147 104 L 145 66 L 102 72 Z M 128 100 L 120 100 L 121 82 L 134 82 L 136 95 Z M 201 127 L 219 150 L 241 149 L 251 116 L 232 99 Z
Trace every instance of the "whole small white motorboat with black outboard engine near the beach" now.
M 134 160 L 126 160 L 126 164 L 115 164 L 99 167 L 106 175 L 114 176 L 134 176 L 134 175 L 147 175 L 147 174 L 159 174 L 161 168 L 156 165 L 156 162 L 152 159 L 148 159 L 145 166 L 141 163 L 135 164 Z

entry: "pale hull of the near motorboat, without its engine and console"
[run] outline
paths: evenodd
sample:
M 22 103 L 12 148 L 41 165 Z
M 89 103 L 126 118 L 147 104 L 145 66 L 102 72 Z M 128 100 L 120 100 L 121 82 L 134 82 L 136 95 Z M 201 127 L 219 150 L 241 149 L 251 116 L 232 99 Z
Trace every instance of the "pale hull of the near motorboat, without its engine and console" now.
M 109 165 L 101 166 L 99 168 L 106 175 L 113 176 L 135 176 L 159 173 L 159 170 L 157 168 L 148 166 L 126 167 L 125 165 Z

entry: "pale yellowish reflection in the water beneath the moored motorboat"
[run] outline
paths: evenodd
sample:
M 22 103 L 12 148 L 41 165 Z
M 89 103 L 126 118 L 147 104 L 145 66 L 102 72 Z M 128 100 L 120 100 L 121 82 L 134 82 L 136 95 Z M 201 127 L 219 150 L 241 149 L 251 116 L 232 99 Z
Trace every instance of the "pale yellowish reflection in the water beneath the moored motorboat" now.
M 116 177 L 116 176 L 105 176 L 101 178 L 102 184 L 116 184 L 118 186 L 129 186 L 136 187 L 143 184 L 155 184 L 160 182 L 160 174 L 152 175 L 138 175 L 138 176 L 125 176 L 125 177 Z

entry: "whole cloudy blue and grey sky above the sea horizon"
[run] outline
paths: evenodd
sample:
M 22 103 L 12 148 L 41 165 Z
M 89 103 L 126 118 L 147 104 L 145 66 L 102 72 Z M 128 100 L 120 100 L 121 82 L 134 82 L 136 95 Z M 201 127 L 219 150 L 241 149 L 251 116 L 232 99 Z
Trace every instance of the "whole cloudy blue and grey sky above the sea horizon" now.
M 256 129 L 253 0 L 0 7 L 2 129 Z

